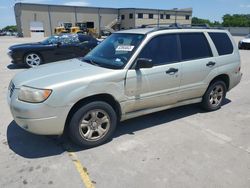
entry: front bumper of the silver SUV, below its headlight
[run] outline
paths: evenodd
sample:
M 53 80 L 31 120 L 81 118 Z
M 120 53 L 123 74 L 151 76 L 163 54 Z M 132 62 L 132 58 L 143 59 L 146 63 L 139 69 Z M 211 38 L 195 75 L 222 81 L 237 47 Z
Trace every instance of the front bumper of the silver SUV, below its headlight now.
M 61 135 L 70 107 L 52 107 L 45 103 L 26 103 L 18 100 L 18 89 L 8 103 L 15 122 L 28 132 L 39 135 Z

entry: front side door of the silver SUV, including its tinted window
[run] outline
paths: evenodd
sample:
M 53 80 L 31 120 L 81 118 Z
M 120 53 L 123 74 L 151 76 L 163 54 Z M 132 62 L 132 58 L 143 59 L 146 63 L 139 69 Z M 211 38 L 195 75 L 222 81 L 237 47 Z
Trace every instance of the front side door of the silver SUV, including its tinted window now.
M 126 112 L 146 110 L 178 101 L 181 63 L 178 38 L 175 34 L 151 39 L 138 58 L 151 59 L 152 68 L 130 69 L 125 81 L 129 102 Z

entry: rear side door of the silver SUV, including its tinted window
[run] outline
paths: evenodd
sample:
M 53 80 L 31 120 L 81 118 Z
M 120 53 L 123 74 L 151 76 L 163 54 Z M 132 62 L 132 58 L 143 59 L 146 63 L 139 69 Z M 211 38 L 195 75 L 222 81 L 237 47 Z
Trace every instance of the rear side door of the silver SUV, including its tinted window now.
M 209 74 L 216 71 L 216 60 L 207 34 L 180 33 L 182 75 L 179 101 L 201 97 L 207 89 Z

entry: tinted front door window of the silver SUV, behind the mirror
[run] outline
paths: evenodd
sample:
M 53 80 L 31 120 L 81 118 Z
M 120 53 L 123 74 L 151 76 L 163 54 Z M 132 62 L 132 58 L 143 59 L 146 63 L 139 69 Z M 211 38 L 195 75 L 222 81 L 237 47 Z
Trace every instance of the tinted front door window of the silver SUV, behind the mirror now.
M 178 62 L 179 51 L 176 34 L 160 35 L 149 41 L 139 58 L 152 59 L 155 66 Z

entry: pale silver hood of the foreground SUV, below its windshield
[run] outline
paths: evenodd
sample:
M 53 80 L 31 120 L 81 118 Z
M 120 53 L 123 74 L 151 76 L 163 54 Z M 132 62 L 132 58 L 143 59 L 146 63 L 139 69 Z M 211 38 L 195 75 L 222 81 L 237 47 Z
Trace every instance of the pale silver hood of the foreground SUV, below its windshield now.
M 59 61 L 41 65 L 18 73 L 13 79 L 16 88 L 23 85 L 35 88 L 54 88 L 65 84 L 85 82 L 114 74 L 117 70 L 106 69 L 82 62 L 80 59 Z

